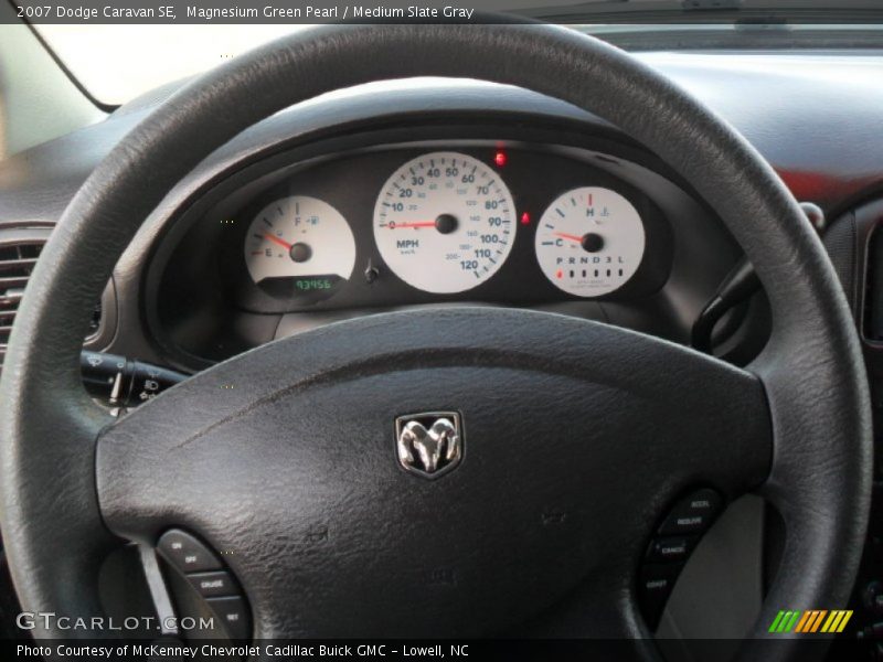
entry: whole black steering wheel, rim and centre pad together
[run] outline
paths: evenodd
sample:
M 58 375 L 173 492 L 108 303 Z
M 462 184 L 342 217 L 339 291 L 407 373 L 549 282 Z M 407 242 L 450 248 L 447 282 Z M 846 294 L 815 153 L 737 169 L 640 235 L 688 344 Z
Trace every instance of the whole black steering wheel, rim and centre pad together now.
M 756 267 L 774 317 L 762 355 L 742 370 L 539 312 L 377 314 L 246 352 L 108 425 L 81 384 L 82 339 L 168 191 L 279 109 L 423 75 L 564 99 L 664 159 Z M 100 615 L 108 549 L 181 526 L 232 552 L 255 638 L 518 627 L 629 639 L 636 659 L 655 659 L 637 608 L 640 559 L 672 500 L 706 484 L 727 500 L 762 494 L 785 522 L 741 654 L 790 659 L 794 641 L 768 639 L 774 615 L 843 606 L 868 524 L 857 332 L 795 200 L 711 110 L 621 51 L 549 25 L 325 26 L 188 85 L 72 200 L 21 303 L 1 388 L 2 533 L 29 611 Z M 461 417 L 462 458 L 424 480 L 397 461 L 395 419 L 439 409 Z M 306 535 L 316 526 L 319 543 Z M 427 579 L 437 569 L 446 581 Z

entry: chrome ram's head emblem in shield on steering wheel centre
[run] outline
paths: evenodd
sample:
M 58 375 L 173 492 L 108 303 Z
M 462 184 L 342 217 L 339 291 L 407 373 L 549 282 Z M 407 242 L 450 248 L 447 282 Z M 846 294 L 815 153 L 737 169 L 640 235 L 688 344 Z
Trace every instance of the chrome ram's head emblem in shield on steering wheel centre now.
M 423 478 L 444 476 L 462 458 L 462 426 L 457 412 L 429 412 L 395 419 L 398 463 Z

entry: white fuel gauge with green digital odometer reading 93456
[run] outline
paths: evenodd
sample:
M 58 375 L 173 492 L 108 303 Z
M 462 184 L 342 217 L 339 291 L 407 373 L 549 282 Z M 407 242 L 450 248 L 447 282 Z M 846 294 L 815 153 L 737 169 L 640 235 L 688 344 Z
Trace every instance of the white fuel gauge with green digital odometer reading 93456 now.
M 355 238 L 327 202 L 291 195 L 255 216 L 245 237 L 245 265 L 270 295 L 317 301 L 330 297 L 355 266 Z

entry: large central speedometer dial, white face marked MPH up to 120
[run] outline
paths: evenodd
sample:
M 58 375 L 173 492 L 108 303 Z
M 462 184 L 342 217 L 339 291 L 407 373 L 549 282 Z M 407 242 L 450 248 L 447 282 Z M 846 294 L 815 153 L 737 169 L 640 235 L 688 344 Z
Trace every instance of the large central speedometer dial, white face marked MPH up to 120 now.
M 472 157 L 434 152 L 386 181 L 374 206 L 374 239 L 402 280 L 461 292 L 502 266 L 515 238 L 515 205 L 500 177 Z

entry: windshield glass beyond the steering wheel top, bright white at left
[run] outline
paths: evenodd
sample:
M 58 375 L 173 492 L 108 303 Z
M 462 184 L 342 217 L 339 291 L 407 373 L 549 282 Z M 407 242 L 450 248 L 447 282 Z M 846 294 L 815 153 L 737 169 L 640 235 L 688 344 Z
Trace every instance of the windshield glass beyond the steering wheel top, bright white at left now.
M 879 0 L 549 0 L 545 4 L 504 0 L 504 7 L 503 0 L 470 0 L 471 7 L 460 6 L 464 13 L 454 17 L 444 13 L 451 10 L 450 4 L 366 8 L 334 1 L 321 0 L 315 7 L 336 11 L 338 19 L 345 12 L 350 21 L 353 15 L 349 12 L 359 12 L 357 8 L 361 8 L 361 18 L 355 20 L 404 21 L 428 18 L 412 15 L 419 9 L 436 11 L 436 18 L 466 21 L 477 20 L 476 11 L 504 9 L 521 17 L 567 23 L 632 51 L 883 47 L 883 3 Z M 87 2 L 78 8 L 79 13 L 72 6 L 66 18 L 33 15 L 30 22 L 83 87 L 108 106 L 206 71 L 310 24 L 302 13 L 285 15 L 291 7 L 212 7 L 211 2 L 178 7 L 174 0 L 169 2 L 173 18 L 166 19 L 170 24 L 136 24 L 145 18 L 107 17 L 113 8 Z M 95 14 L 83 13 L 85 7 L 94 7 Z M 403 13 L 397 13 L 400 10 Z M 273 15 L 268 18 L 267 12 Z

